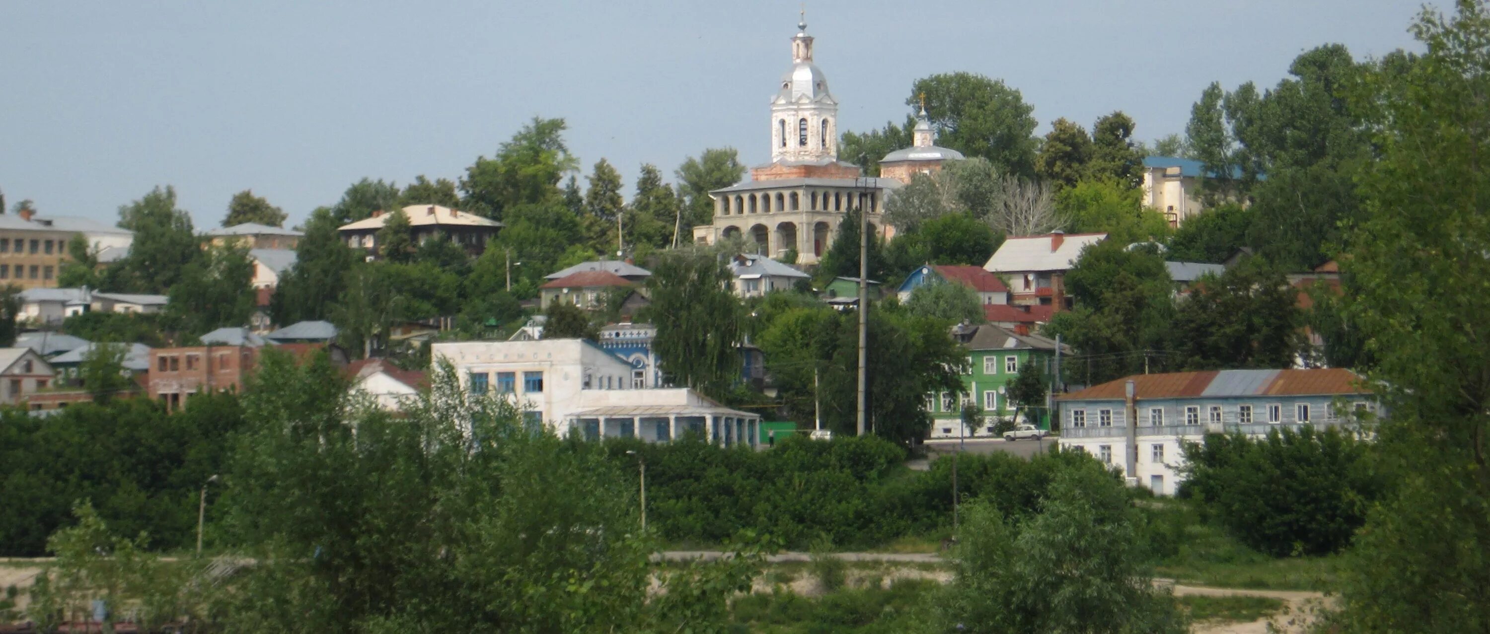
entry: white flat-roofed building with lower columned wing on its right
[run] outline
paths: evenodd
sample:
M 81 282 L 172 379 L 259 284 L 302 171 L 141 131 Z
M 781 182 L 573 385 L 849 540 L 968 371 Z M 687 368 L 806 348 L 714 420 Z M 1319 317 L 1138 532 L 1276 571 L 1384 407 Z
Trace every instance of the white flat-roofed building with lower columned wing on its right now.
M 632 365 L 587 339 L 437 342 L 432 356 L 471 393 L 505 394 L 529 424 L 560 435 L 666 441 L 696 430 L 726 446 L 754 446 L 758 435 L 760 415 L 690 388 L 635 388 Z

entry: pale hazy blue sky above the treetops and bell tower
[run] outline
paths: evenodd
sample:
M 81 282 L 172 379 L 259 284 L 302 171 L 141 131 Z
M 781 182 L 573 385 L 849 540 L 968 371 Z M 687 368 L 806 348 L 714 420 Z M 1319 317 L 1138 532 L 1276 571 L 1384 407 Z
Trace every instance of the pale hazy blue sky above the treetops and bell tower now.
M 252 189 L 301 222 L 362 177 L 457 179 L 533 116 L 627 190 L 706 147 L 769 161 L 800 1 L 3 1 L 0 190 L 113 222 L 173 185 L 200 229 Z M 839 129 L 900 122 L 915 79 L 971 71 L 1037 134 L 1123 110 L 1183 132 L 1210 82 L 1271 86 L 1301 52 L 1416 49 L 1416 0 L 814 0 Z M 629 193 L 629 192 L 627 192 Z

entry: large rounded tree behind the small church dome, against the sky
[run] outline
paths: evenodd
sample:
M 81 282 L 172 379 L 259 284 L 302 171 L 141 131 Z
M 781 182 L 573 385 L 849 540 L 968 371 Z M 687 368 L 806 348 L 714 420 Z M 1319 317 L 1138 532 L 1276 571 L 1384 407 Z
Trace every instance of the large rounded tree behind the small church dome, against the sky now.
M 922 94 L 939 144 L 986 158 L 1001 174 L 1034 176 L 1034 107 L 1018 89 L 982 74 L 933 74 L 915 82 L 906 106 Z

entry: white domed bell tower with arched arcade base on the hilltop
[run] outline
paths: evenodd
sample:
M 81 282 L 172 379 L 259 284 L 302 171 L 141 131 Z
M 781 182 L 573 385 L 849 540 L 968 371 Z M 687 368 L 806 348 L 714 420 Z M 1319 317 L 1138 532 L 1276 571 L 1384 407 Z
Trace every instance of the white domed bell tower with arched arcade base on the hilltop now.
M 803 21 L 791 39 L 791 70 L 770 101 L 770 164 L 751 168 L 749 180 L 709 192 L 714 222 L 694 226 L 693 240 L 739 237 L 758 244 L 764 256 L 796 250 L 797 263 L 815 263 L 849 210 L 867 211 L 870 231 L 887 235 L 885 199 L 903 183 L 864 177 L 858 165 L 839 161 L 837 134 L 837 100 L 812 63 Z

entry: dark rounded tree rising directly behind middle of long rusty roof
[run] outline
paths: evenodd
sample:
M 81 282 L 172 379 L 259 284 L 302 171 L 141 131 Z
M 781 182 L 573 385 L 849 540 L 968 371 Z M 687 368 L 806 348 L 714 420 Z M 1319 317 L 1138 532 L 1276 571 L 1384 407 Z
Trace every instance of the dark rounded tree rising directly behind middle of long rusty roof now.
M 1174 342 L 1191 369 L 1289 368 L 1299 350 L 1298 289 L 1261 257 L 1202 277 L 1174 316 Z

